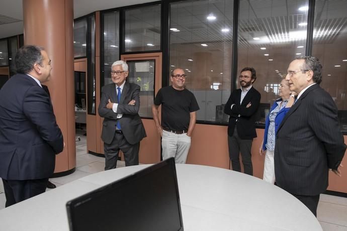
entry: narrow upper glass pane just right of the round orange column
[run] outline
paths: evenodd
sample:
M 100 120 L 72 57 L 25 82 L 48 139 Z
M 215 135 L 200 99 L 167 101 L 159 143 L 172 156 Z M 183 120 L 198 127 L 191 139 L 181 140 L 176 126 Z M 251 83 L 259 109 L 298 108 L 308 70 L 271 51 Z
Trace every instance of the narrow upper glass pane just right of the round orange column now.
M 86 57 L 86 18 L 73 22 L 74 58 Z

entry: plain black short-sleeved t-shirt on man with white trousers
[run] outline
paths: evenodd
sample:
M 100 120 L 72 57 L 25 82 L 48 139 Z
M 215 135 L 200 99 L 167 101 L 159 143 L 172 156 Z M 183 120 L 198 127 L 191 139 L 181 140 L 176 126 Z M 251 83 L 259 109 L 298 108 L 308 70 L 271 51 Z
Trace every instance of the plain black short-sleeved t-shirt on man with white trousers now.
M 172 86 L 161 88 L 154 104 L 161 104 L 161 126 L 173 131 L 188 130 L 190 112 L 200 109 L 191 91 L 176 90 Z

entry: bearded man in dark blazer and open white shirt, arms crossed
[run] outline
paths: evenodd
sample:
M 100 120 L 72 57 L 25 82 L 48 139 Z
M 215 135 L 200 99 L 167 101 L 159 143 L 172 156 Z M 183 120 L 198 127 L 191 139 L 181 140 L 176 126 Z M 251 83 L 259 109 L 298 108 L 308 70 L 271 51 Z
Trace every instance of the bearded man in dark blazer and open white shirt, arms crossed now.
M 241 172 L 239 153 L 241 152 L 245 174 L 253 175 L 251 147 L 256 137 L 255 120 L 261 94 L 252 86 L 256 72 L 245 67 L 239 76 L 241 88 L 233 91 L 225 104 L 224 113 L 228 114 L 228 147 L 232 170 Z

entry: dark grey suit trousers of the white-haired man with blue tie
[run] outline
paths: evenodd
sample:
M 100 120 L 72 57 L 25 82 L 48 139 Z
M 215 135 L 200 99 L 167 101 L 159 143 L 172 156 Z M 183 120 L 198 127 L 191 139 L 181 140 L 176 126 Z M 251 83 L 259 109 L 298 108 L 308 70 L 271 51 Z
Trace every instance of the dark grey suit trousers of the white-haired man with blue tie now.
M 124 153 L 125 166 L 139 164 L 140 142 L 129 144 L 122 133 L 115 133 L 111 144 L 104 143 L 105 171 L 117 167 L 118 153 Z

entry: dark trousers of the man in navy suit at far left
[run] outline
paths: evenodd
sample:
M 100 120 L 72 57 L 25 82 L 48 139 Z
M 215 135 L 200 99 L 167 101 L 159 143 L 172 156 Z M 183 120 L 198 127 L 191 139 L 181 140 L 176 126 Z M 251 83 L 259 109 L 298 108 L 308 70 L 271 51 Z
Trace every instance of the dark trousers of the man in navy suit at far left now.
M 4 180 L 5 207 L 29 199 L 46 191 L 48 178 L 37 180 Z

